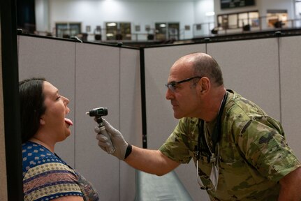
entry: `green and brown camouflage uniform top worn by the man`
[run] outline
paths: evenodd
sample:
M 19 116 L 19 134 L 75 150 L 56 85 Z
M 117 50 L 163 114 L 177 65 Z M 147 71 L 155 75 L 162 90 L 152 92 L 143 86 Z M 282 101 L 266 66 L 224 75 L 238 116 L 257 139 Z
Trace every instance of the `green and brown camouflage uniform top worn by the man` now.
M 300 161 L 288 147 L 278 121 L 235 91 L 228 93 L 221 115 L 219 180 L 216 191 L 207 193 L 211 200 L 277 200 L 278 181 L 300 167 Z M 196 118 L 180 119 L 159 150 L 178 163 L 189 163 L 193 158 L 196 164 L 199 123 Z M 203 184 L 212 186 L 206 146 L 200 145 L 198 172 Z

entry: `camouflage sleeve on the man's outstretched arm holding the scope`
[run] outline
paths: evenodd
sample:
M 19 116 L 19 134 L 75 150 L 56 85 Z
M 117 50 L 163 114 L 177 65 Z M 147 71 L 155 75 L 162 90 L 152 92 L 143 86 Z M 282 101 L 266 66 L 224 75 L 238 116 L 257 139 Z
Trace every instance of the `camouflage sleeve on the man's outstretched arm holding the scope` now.
M 177 163 L 189 163 L 191 160 L 189 148 L 185 143 L 187 127 L 186 118 L 180 119 L 175 130 L 159 149 L 162 154 Z

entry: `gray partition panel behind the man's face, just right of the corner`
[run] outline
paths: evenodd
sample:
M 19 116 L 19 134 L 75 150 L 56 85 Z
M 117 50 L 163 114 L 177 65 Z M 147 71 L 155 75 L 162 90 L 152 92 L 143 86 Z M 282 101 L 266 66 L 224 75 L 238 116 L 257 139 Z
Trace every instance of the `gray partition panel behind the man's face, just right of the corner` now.
M 166 100 L 166 82 L 172 64 L 185 54 L 206 52 L 205 44 L 149 47 L 145 49 L 145 99 L 147 112 L 147 147 L 159 149 L 177 125 L 172 105 Z M 200 191 L 193 161 L 175 170 L 193 200 L 208 198 Z

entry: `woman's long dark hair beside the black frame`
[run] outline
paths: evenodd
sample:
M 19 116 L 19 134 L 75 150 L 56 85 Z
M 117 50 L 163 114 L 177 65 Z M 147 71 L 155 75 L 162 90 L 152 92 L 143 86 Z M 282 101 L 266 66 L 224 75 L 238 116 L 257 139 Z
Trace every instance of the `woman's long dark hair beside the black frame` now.
M 45 113 L 44 81 L 45 78 L 34 77 L 19 82 L 22 143 L 38 131 L 40 117 Z

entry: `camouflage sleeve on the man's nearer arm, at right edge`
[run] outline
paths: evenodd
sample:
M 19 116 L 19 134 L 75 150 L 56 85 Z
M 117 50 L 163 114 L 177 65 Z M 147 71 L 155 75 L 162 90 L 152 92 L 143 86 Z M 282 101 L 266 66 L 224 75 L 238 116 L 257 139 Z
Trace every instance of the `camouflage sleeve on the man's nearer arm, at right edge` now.
M 247 162 L 263 177 L 279 181 L 300 166 L 300 161 L 288 147 L 281 124 L 271 117 L 249 119 L 237 138 Z

